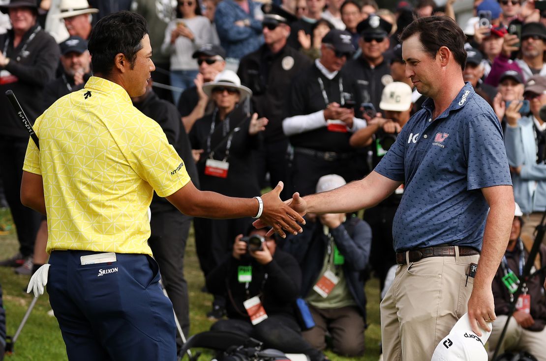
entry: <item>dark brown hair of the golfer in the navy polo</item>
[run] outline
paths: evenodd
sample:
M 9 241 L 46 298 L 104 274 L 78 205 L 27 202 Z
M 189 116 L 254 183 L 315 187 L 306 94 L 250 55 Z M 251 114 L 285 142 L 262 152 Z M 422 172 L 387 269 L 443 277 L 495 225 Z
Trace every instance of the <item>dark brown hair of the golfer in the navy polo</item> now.
M 419 34 L 419 41 L 423 44 L 423 50 L 432 58 L 436 57 L 438 50 L 446 46 L 461 65 L 466 65 L 465 34 L 457 23 L 449 16 L 426 16 L 414 19 L 400 34 L 400 42 Z

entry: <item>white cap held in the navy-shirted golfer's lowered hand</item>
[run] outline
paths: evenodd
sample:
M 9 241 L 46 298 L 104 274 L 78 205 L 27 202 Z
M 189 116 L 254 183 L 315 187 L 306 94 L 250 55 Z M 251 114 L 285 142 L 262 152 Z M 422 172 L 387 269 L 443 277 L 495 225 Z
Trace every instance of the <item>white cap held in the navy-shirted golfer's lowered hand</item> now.
M 491 323 L 487 323 L 492 329 Z M 487 361 L 485 342 L 491 332 L 480 329 L 482 336 L 478 336 L 470 327 L 468 314 L 455 323 L 449 334 L 436 346 L 431 361 Z

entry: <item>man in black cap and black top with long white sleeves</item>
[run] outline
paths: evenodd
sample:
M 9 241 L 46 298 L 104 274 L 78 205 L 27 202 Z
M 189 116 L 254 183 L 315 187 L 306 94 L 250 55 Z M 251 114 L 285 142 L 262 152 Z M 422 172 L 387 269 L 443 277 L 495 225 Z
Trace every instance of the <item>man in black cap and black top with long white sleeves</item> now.
M 349 137 L 366 122 L 354 117 L 354 82 L 340 71 L 353 53 L 351 34 L 333 29 L 322 39 L 321 58 L 294 79 L 282 127 L 294 147 L 292 182 L 301 195 L 314 193 L 322 176 L 351 182 L 361 175 Z

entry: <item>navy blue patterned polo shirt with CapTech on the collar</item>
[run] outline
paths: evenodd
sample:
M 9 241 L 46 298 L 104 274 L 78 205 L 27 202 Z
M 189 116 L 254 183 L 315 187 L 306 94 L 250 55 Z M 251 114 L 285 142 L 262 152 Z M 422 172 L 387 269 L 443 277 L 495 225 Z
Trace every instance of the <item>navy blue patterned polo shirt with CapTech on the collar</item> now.
M 394 249 L 451 244 L 481 250 L 489 206 L 480 188 L 512 184 L 500 123 L 470 83 L 436 119 L 433 109 L 427 99 L 375 168 L 405 187 Z

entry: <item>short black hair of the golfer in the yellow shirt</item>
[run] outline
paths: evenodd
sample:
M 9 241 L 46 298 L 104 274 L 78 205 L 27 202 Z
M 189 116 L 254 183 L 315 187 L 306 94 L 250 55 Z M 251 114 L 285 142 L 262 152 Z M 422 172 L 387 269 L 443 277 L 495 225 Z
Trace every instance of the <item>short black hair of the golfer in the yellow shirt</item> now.
M 133 69 L 136 53 L 143 47 L 141 40 L 147 33 L 146 19 L 129 11 L 119 11 L 100 19 L 91 31 L 87 46 L 93 73 L 109 75 L 119 53 L 128 59 Z

